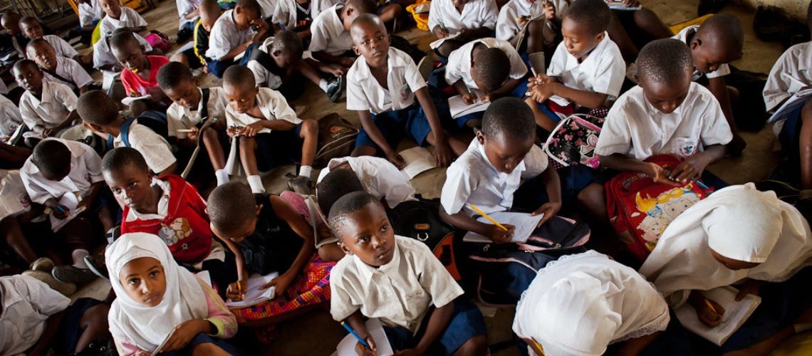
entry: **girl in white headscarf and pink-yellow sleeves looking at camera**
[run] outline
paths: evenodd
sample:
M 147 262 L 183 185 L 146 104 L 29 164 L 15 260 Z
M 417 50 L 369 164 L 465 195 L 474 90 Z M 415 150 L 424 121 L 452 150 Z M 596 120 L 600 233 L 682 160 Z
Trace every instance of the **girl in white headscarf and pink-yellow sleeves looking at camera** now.
M 161 238 L 123 234 L 105 259 L 118 296 L 109 320 L 119 354 L 151 354 L 170 334 L 162 352 L 237 353 L 222 340 L 237 332 L 234 315 L 209 285 L 175 262 Z

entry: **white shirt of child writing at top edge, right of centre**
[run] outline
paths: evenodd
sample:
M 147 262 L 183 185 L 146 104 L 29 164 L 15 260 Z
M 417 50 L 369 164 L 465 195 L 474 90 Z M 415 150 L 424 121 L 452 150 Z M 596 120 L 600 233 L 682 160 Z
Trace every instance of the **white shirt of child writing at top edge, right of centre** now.
M 449 33 L 460 32 L 463 28 L 496 28 L 499 10 L 494 0 L 471 0 L 456 10 L 451 0 L 434 0 L 429 11 L 429 31 L 434 30 L 441 22 Z

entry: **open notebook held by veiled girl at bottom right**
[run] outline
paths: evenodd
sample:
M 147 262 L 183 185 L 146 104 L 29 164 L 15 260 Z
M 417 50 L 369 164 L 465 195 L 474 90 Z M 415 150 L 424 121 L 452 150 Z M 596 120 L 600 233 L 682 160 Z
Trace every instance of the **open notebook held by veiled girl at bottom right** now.
M 747 294 L 741 301 L 736 302 L 736 294 L 739 293 L 739 290 L 730 286 L 706 290 L 701 293 L 706 298 L 718 302 L 724 308 L 722 323 L 715 328 L 702 324 L 702 321 L 697 316 L 696 309 L 688 303 L 676 308 L 676 318 L 680 320 L 682 326 L 716 345 L 722 345 L 724 341 L 728 341 L 733 332 L 741 328 L 741 324 L 745 324 L 745 321 L 753 314 L 758 304 L 761 304 L 761 297 L 753 294 Z

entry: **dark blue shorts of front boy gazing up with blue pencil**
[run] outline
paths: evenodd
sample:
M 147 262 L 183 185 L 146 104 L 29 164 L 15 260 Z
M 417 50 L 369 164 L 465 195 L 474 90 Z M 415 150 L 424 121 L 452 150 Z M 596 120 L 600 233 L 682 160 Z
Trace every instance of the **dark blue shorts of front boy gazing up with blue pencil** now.
M 472 302 L 460 297 L 454 299 L 452 303 L 454 304 L 454 313 L 451 314 L 451 321 L 448 322 L 443 333 L 434 341 L 426 354 L 450 355 L 473 337 L 486 335 L 485 319 Z M 387 334 L 392 350 L 406 350 L 417 346 L 425 333 L 425 328 L 428 327 L 433 312 L 434 307 L 430 307 L 423 318 L 420 328 L 417 330 L 417 334 L 414 336 L 412 336 L 412 332 L 408 328 L 384 326 L 383 332 Z

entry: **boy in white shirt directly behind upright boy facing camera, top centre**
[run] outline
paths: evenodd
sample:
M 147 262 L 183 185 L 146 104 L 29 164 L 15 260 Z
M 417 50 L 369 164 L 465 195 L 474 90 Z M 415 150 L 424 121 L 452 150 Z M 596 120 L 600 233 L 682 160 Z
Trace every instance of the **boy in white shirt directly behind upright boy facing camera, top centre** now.
M 352 21 L 359 15 L 374 13 L 377 8 L 373 0 L 348 0 L 319 14 L 310 26 L 313 59 L 347 71 L 358 55 L 351 51 Z

